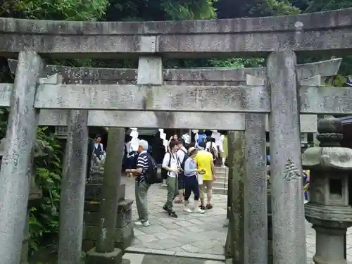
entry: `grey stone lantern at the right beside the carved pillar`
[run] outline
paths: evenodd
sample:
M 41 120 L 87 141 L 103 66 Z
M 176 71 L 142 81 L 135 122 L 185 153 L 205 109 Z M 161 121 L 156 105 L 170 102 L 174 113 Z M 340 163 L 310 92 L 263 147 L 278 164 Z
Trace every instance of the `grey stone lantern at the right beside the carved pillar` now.
M 352 226 L 352 149 L 340 146 L 341 120 L 329 117 L 318 121 L 318 147 L 302 155 L 304 169 L 310 170 L 310 201 L 306 219 L 316 231 L 317 264 L 345 264 L 345 235 Z

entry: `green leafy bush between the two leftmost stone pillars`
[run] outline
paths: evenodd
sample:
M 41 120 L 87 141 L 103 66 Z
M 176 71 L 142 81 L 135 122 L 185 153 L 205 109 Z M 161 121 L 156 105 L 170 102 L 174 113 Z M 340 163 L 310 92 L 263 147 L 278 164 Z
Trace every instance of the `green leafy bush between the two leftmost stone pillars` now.
M 34 163 L 37 167 L 35 183 L 42 189 L 43 197 L 30 209 L 30 249 L 37 250 L 40 241 L 46 244 L 56 239 L 61 194 L 61 145 L 47 131 L 38 127 Z M 54 236 L 53 236 L 54 234 Z

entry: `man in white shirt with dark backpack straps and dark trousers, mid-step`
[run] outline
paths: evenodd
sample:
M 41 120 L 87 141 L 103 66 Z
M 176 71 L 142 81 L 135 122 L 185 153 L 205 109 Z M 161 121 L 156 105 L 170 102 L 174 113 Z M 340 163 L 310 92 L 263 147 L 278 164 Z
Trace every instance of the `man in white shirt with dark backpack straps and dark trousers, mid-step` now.
M 163 169 L 168 172 L 166 185 L 168 187 L 168 196 L 163 209 L 168 212 L 172 218 L 177 218 L 173 210 L 173 201 L 178 193 L 178 173 L 181 171 L 180 161 L 177 158 L 178 142 L 170 142 L 170 151 L 165 153 L 163 158 Z

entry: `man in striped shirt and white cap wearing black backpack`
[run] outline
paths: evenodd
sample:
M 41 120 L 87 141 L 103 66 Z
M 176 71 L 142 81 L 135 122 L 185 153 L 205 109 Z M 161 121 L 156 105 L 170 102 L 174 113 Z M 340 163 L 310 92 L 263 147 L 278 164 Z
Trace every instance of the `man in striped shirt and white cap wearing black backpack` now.
M 126 170 L 127 173 L 132 173 L 136 177 L 135 196 L 138 211 L 138 220 L 134 225 L 149 227 L 148 207 L 146 195 L 151 184 L 163 182 L 161 176 L 158 175 L 156 162 L 147 153 L 148 142 L 139 140 L 138 158 L 135 169 Z

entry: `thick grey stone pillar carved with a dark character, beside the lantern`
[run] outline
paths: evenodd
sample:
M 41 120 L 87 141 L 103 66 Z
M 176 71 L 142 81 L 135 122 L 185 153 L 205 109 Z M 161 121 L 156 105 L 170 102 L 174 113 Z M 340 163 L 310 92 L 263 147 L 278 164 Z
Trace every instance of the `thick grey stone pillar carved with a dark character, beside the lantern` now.
M 272 240 L 275 264 L 306 263 L 301 133 L 296 54 L 275 51 L 268 57 L 271 92 L 270 160 Z

